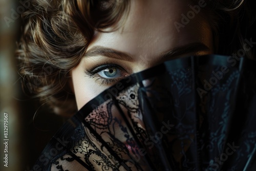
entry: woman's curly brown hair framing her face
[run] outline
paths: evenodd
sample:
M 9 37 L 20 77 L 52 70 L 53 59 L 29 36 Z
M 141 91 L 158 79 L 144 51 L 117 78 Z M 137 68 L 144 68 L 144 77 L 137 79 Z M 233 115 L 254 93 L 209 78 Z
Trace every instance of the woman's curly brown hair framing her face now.
M 211 13 L 215 53 L 229 55 L 243 49 L 254 20 L 249 1 L 205 1 Z M 130 1 L 35 0 L 30 3 L 31 8 L 22 15 L 22 36 L 16 51 L 19 74 L 27 90 L 47 102 L 54 113 L 72 115 L 77 108 L 69 71 L 86 54 L 95 31 L 104 32 L 106 28 L 113 31 L 122 26 L 129 14 Z M 252 58 L 254 52 L 246 53 L 246 57 Z

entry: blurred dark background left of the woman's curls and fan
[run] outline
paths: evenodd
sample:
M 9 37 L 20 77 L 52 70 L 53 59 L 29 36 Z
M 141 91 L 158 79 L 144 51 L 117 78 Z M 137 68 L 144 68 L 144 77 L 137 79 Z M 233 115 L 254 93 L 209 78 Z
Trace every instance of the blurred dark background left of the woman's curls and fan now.
M 22 0 L 21 2 L 25 2 Z M 15 58 L 20 34 L 18 0 L 0 0 L 0 170 L 31 170 L 65 119 L 49 113 L 30 92 L 23 91 Z M 14 12 L 13 12 L 14 11 Z M 14 13 L 17 12 L 18 15 Z M 8 23 L 8 19 L 11 19 Z M 4 166 L 4 113 L 8 114 L 8 167 Z

